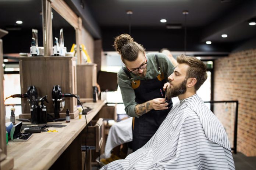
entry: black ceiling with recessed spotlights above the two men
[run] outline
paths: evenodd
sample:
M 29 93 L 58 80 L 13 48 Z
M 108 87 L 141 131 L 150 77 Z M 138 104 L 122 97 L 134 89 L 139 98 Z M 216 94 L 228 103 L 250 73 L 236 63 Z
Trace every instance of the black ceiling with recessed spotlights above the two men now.
M 186 16 L 187 51 L 231 52 L 256 37 L 256 26 L 248 25 L 248 20 L 256 16 L 255 0 L 82 0 L 82 2 L 88 5 L 102 30 L 103 48 L 106 51 L 113 50 L 111 45 L 114 36 L 129 32 L 129 23 L 131 23 L 132 36 L 147 50 L 155 51 L 167 47 L 172 51 L 183 51 L 185 16 L 182 11 L 184 10 L 189 11 Z M 132 10 L 133 14 L 127 15 L 127 10 Z M 166 19 L 167 22 L 161 23 L 160 19 Z M 166 24 L 181 24 L 182 29 L 166 29 Z M 222 38 L 221 34 L 227 34 L 228 37 Z M 206 45 L 206 41 L 211 41 L 212 44 Z

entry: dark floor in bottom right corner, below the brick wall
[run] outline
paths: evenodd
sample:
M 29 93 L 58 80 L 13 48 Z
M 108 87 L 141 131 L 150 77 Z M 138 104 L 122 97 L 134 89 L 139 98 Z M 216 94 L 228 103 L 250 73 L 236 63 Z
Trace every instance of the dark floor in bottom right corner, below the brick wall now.
M 256 170 L 256 156 L 247 157 L 242 153 L 233 154 L 236 170 Z M 92 167 L 97 170 L 97 167 Z

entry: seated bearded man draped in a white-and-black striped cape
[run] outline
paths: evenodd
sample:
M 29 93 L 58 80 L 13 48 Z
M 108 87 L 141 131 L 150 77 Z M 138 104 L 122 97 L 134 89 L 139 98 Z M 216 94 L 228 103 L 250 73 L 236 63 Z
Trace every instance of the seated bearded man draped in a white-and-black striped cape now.
M 179 103 L 142 148 L 102 169 L 235 169 L 223 125 L 196 94 L 207 78 L 205 64 L 185 55 L 177 62 L 165 88 Z

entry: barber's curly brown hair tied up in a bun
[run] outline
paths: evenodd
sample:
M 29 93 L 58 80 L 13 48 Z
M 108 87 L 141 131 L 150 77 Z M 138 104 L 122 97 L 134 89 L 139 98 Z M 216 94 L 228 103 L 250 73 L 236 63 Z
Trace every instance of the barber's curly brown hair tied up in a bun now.
M 138 58 L 139 52 L 144 53 L 145 49 L 142 45 L 134 41 L 134 39 L 129 34 L 121 34 L 115 37 L 114 48 L 123 59 L 128 61 L 135 61 Z

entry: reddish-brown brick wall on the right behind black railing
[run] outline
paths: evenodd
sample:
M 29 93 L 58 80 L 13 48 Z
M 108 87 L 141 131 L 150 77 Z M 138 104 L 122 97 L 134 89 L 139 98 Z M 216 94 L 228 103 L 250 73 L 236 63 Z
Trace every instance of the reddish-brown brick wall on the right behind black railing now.
M 239 101 L 237 150 L 256 156 L 256 49 L 231 53 L 215 61 L 214 100 Z M 231 141 L 234 111 L 235 104 L 214 107 Z

